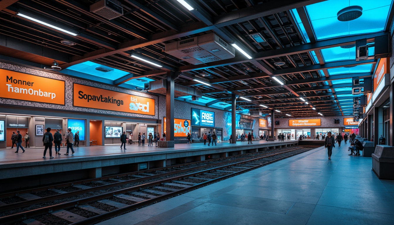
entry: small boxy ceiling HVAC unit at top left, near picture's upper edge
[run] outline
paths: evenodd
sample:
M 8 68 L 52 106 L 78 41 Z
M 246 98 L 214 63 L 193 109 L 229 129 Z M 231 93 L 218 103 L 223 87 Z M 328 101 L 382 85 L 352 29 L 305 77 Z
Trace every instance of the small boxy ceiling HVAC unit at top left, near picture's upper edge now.
M 90 12 L 112 20 L 123 15 L 123 6 L 117 0 L 100 0 L 90 6 Z

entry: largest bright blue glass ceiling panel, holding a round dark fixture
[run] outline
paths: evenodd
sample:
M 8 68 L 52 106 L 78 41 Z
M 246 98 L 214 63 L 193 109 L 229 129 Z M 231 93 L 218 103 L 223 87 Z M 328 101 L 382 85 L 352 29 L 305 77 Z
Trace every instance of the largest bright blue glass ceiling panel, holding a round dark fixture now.
M 383 31 L 391 0 L 328 0 L 307 6 L 317 39 Z M 337 13 L 348 6 L 361 6 L 361 17 L 339 21 Z

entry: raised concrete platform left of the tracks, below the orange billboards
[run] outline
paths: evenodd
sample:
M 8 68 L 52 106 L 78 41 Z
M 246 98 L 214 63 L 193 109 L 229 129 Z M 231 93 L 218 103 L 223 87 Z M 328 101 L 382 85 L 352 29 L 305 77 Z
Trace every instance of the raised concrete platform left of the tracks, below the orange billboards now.
M 0 151 L 0 190 L 24 188 L 26 186 L 45 185 L 56 182 L 96 178 L 116 173 L 127 173 L 140 169 L 165 167 L 174 164 L 197 162 L 209 158 L 244 154 L 298 145 L 298 141 L 253 141 L 217 143 L 208 146 L 203 143 L 176 144 L 173 148 L 158 148 L 138 145 L 120 145 L 74 147 L 74 154 L 65 155 L 66 148 L 61 147 L 61 155 L 54 158 L 43 157 L 43 148 L 26 148 Z

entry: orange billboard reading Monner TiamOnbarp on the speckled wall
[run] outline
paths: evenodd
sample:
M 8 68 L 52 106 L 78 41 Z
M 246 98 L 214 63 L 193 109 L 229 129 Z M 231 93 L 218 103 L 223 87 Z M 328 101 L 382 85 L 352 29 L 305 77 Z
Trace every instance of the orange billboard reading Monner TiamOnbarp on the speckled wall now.
M 64 105 L 64 80 L 5 69 L 0 69 L 0 79 L 5 84 L 0 90 L 1 98 Z

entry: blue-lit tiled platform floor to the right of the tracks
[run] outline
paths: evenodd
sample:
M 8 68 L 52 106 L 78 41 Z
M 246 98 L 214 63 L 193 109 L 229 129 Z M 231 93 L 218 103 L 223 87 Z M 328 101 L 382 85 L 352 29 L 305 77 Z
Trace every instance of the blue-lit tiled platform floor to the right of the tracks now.
M 394 180 L 348 147 L 331 160 L 318 147 L 99 224 L 392 225 Z

